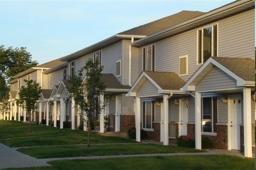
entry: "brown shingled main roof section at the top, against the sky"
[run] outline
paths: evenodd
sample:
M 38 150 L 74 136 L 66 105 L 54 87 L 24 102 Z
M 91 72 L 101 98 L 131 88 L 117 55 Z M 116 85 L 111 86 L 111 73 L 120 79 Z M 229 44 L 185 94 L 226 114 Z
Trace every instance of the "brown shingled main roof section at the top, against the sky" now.
M 118 33 L 120 35 L 151 35 L 204 14 L 200 11 L 180 11 L 156 21 Z

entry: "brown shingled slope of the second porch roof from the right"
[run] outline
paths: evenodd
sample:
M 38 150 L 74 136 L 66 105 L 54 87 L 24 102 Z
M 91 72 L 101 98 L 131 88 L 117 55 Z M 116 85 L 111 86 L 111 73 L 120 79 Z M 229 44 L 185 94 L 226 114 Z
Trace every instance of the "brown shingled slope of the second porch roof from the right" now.
M 145 71 L 163 90 L 180 90 L 186 83 L 175 72 Z

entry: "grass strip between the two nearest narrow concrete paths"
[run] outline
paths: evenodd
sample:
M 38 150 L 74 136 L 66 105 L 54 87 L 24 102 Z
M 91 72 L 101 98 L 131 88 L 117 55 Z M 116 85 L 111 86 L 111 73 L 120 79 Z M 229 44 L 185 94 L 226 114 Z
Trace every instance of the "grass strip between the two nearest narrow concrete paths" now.
M 109 155 L 134 155 L 134 154 L 154 154 L 154 153 L 191 153 L 204 152 L 192 148 L 177 146 L 163 146 L 156 144 L 108 144 L 92 145 L 91 148 L 81 148 L 84 146 L 48 146 L 20 148 L 17 151 L 35 157 L 43 158 L 68 158 L 82 156 L 109 156 Z

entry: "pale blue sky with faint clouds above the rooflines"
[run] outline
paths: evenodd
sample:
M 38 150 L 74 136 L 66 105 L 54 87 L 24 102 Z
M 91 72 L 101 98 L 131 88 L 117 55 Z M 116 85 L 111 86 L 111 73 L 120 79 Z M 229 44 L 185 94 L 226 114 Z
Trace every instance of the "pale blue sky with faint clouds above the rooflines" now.
M 39 64 L 177 12 L 208 12 L 234 0 L 0 0 L 0 45 L 26 47 Z

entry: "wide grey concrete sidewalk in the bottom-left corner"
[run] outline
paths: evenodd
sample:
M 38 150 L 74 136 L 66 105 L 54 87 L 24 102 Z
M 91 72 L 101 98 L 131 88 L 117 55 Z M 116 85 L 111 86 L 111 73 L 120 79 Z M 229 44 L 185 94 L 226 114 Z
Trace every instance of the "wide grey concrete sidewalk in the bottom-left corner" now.
M 51 166 L 40 159 L 36 159 L 15 151 L 0 143 L 0 169 L 21 168 L 31 166 Z

